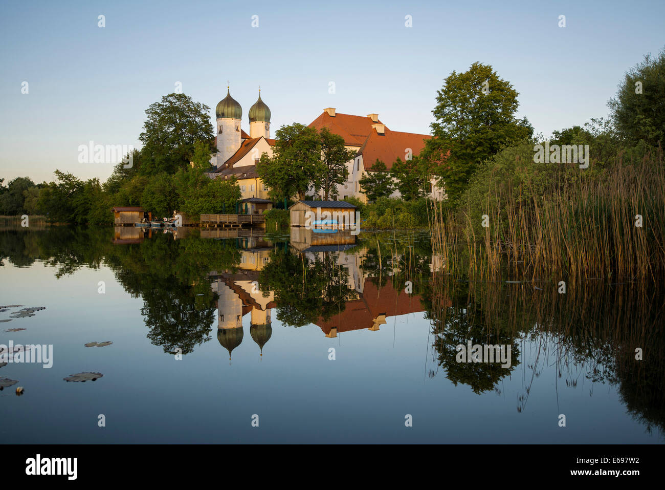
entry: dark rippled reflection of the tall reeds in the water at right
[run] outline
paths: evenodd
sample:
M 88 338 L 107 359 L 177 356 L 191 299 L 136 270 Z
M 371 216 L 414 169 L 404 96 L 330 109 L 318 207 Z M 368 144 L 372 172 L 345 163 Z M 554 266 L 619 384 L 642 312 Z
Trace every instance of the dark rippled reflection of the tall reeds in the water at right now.
M 451 332 L 462 337 L 471 327 L 487 343 L 511 338 L 520 346 L 523 371 L 518 411 L 526 407 L 533 380 L 545 366 L 555 366 L 571 389 L 581 379 L 588 380 L 586 389 L 616 384 L 634 417 L 665 432 L 665 292 L 638 283 L 585 281 L 559 294 L 556 283 L 536 284 L 463 282 L 436 274 L 432 354 L 440 359 Z M 638 348 L 642 360 L 636 359 Z

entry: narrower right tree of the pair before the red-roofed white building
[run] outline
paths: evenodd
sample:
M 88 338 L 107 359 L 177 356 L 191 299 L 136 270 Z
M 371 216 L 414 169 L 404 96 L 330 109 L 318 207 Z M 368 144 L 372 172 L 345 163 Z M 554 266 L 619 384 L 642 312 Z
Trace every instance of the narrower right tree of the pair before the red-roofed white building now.
M 321 174 L 315 187 L 317 192 L 323 190 L 323 198 L 337 198 L 337 185 L 343 184 L 348 177 L 346 162 L 351 160 L 356 152 L 347 150 L 344 146 L 344 138 L 328 128 L 322 128 L 321 136 L 321 160 L 323 162 L 323 174 Z

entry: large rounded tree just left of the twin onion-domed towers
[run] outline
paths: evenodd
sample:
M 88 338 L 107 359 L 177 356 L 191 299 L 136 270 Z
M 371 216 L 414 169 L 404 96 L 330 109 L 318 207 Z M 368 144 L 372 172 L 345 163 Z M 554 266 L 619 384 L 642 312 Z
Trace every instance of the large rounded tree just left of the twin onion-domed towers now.
M 172 93 L 162 97 L 146 110 L 148 120 L 138 137 L 141 149 L 140 173 L 154 175 L 173 174 L 188 166 L 194 158 L 194 145 L 203 142 L 208 154 L 215 151 L 213 127 L 209 121 L 210 108 L 192 101 L 192 97 Z

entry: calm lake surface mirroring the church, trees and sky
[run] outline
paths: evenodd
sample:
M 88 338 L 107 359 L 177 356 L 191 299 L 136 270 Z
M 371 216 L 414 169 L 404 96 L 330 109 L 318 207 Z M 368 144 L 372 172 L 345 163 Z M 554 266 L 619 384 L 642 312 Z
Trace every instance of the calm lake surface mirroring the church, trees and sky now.
M 5 230 L 0 259 L 0 344 L 53 344 L 0 367 L 5 442 L 664 440 L 657 288 L 451 280 L 424 232 Z

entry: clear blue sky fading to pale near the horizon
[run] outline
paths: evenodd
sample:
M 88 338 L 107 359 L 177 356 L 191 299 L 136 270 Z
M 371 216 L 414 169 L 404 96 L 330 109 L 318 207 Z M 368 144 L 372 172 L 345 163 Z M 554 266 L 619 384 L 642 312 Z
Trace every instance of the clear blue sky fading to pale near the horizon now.
M 0 178 L 103 181 L 114 164 L 80 163 L 78 146 L 140 147 L 178 83 L 214 124 L 228 81 L 247 132 L 260 86 L 272 135 L 326 107 L 429 134 L 436 91 L 477 61 L 549 136 L 608 115 L 624 73 L 665 47 L 665 2 L 3 0 L 0 40 Z

